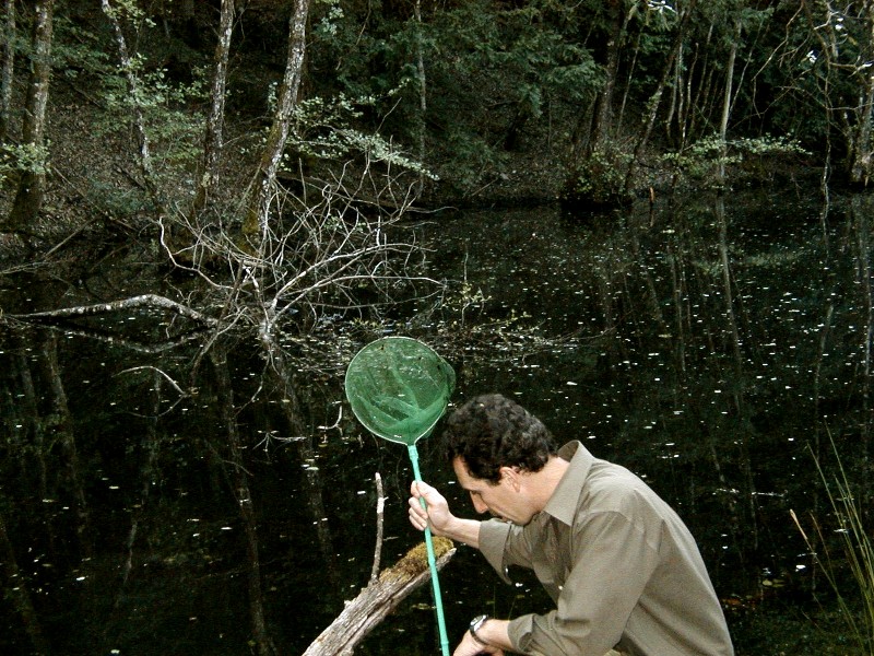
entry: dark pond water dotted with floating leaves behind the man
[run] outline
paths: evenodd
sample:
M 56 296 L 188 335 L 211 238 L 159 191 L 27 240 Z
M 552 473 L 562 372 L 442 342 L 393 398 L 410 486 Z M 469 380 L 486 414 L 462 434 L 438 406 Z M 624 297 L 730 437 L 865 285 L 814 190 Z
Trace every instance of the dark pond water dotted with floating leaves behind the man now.
M 806 614 L 826 586 L 789 512 L 828 526 L 813 455 L 830 467 L 830 438 L 867 496 L 872 209 L 792 189 L 625 214 L 447 214 L 420 230 L 433 274 L 458 284 L 394 331 L 441 350 L 454 402 L 515 395 L 560 441 L 649 481 L 697 537 L 739 654 L 823 653 L 805 632 L 819 635 Z M 95 268 L 74 300 L 139 293 L 144 278 L 129 260 Z M 0 303 L 39 308 L 48 293 L 9 288 Z M 92 337 L 2 332 L 0 653 L 253 653 L 259 591 L 277 652 L 303 653 L 367 584 L 377 472 L 382 564 L 421 539 L 406 449 L 344 406 L 345 364 L 378 333 L 336 321 L 290 340 L 276 378 L 257 344 L 212 359 L 199 342 L 149 352 L 93 337 L 133 325 L 169 330 L 128 313 Z M 423 477 L 457 499 L 437 437 L 418 450 Z M 454 509 L 473 514 L 464 499 Z M 463 547 L 440 582 L 450 639 L 480 612 L 547 604 Z M 358 653 L 439 653 L 429 588 Z

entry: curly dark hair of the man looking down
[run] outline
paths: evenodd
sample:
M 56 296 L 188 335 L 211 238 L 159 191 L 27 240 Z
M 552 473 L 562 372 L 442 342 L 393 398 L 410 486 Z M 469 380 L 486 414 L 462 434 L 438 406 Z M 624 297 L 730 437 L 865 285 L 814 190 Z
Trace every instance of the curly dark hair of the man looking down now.
M 447 420 L 444 429 L 447 460 L 464 460 L 473 478 L 493 484 L 500 481 L 501 467 L 540 471 L 556 455 L 548 429 L 516 401 L 499 394 L 471 399 Z

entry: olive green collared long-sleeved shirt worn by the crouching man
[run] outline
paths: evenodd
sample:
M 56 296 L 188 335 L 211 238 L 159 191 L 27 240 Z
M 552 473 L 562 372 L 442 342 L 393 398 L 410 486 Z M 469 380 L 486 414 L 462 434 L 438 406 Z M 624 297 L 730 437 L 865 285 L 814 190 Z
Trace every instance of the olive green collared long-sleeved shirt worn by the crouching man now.
M 521 654 L 731 656 L 725 618 L 695 539 L 642 480 L 580 442 L 558 452 L 570 466 L 525 526 L 483 522 L 480 550 L 534 571 L 556 602 L 509 623 Z

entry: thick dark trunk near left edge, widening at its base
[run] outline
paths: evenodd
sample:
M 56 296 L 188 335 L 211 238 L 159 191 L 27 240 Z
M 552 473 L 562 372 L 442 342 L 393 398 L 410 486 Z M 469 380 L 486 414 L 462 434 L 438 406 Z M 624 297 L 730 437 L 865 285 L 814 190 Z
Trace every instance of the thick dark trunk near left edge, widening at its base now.
M 22 143 L 33 148 L 39 162 L 23 171 L 12 210 L 9 229 L 26 232 L 39 215 L 46 191 L 45 131 L 46 105 L 51 79 L 51 20 L 54 0 L 39 0 L 32 37 L 31 78 L 22 124 Z

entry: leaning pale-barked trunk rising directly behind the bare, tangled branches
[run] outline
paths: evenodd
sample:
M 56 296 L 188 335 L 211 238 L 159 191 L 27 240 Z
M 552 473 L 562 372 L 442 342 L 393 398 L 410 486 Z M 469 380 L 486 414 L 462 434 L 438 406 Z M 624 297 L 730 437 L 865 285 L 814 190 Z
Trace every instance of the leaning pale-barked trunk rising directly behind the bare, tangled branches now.
M 243 236 L 252 245 L 260 245 L 270 223 L 270 211 L 276 188 L 276 172 L 282 163 L 292 113 L 297 105 L 297 91 L 304 71 L 306 55 L 307 16 L 310 0 L 296 0 L 288 22 L 288 52 L 285 60 L 285 75 L 280 87 L 276 113 L 267 137 L 264 152 L 253 183 L 243 222 Z

